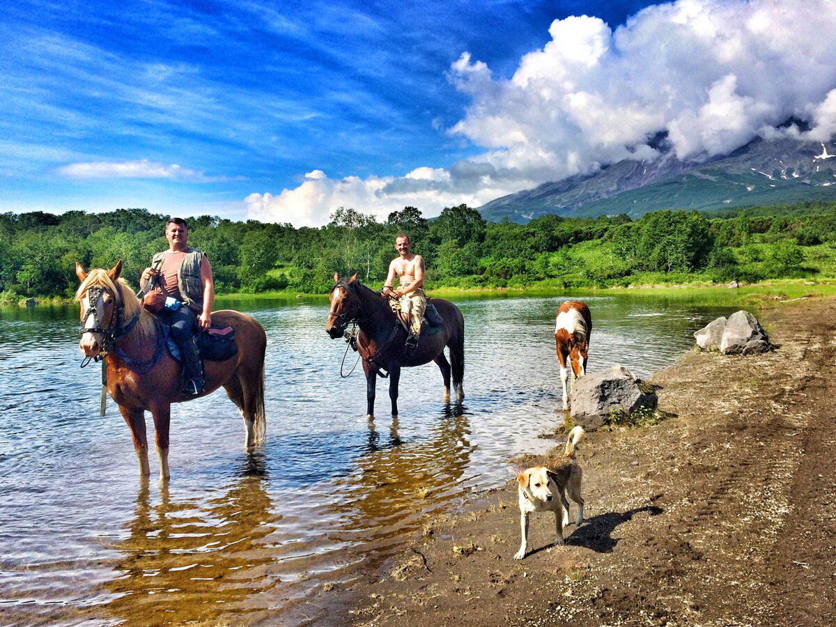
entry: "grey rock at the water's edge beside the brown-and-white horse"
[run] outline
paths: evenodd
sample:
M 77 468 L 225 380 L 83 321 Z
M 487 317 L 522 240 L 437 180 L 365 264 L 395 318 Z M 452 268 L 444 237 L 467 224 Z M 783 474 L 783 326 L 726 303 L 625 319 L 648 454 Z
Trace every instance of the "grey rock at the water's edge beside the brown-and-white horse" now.
M 592 430 L 603 426 L 613 410 L 630 414 L 640 407 L 655 408 L 659 402 L 655 391 L 642 387 L 647 390 L 624 366 L 581 377 L 574 382 L 569 414 L 573 424 Z

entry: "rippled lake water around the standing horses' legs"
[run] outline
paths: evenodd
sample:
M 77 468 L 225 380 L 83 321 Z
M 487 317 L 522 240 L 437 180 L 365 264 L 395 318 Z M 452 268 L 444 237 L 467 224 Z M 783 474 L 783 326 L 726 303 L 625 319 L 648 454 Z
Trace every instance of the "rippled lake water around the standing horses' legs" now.
M 624 364 L 640 376 L 738 308 L 600 293 L 456 298 L 464 404 L 442 402 L 427 364 L 403 370 L 395 424 L 378 382 L 370 424 L 361 368 L 339 375 L 345 344 L 324 332 L 324 298 L 219 301 L 267 330 L 268 441 L 247 455 L 222 391 L 174 405 L 167 486 L 155 451 L 140 481 L 112 400 L 99 416 L 99 367 L 79 369 L 78 308 L 0 309 L 0 622 L 316 624 L 329 588 L 395 553 L 429 512 L 553 446 L 537 435 L 562 421 L 552 334 L 568 298 L 593 314 L 589 370 Z

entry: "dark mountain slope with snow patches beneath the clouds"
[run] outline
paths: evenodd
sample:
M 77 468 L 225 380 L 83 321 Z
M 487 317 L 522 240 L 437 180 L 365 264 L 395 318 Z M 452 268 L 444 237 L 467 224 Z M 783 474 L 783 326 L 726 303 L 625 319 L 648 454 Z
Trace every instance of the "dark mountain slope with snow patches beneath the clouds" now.
M 502 196 L 479 210 L 487 220 L 528 222 L 549 213 L 638 217 L 660 209 L 721 211 L 823 199 L 836 200 L 836 141 L 782 138 L 753 140 L 702 163 L 670 151 L 654 161 L 619 161 L 592 175 Z

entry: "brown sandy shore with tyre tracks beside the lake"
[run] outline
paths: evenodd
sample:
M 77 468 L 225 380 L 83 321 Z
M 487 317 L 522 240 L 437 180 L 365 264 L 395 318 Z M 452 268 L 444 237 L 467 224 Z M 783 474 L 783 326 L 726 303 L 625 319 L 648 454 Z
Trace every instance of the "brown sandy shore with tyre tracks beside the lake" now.
M 565 546 L 548 547 L 551 514 L 538 514 L 533 553 L 512 559 L 508 482 L 313 599 L 315 624 L 832 624 L 836 298 L 772 303 L 758 319 L 776 351 L 687 354 L 652 380 L 666 421 L 589 433 L 587 520 Z

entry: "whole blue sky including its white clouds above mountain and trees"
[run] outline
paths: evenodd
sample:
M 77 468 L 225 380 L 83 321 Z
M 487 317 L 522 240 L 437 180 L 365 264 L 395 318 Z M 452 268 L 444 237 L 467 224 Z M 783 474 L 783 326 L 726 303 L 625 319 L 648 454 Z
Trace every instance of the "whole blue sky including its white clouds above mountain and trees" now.
M 8 3 L 0 211 L 433 216 L 658 130 L 692 159 L 788 115 L 826 139 L 836 10 L 799 4 Z

